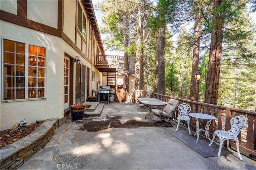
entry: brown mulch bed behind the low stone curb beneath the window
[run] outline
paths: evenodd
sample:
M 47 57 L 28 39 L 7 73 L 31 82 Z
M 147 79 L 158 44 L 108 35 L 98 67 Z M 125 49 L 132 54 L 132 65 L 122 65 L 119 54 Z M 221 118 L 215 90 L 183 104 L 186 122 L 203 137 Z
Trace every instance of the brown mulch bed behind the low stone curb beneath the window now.
M 10 133 L 11 129 L 6 129 L 1 131 L 1 148 L 11 145 L 12 143 L 22 139 L 23 137 L 32 133 L 38 126 L 40 126 L 44 121 L 36 121 L 36 123 L 26 126 L 26 130 L 14 131 Z

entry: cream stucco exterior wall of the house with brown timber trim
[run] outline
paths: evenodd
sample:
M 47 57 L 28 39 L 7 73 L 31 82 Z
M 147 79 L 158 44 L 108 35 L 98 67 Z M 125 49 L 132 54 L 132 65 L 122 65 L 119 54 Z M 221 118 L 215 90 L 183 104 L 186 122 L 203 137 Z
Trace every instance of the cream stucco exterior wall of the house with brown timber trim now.
M 46 4 L 43 4 L 45 3 Z M 35 21 L 35 24 L 42 23 L 46 25 L 47 29 L 53 30 L 56 33 L 52 33 L 51 31 L 39 31 L 36 29 L 32 29 L 26 25 L 18 25 L 15 23 L 11 23 L 5 20 L 0 21 L 0 47 L 1 47 L 1 83 L 0 83 L 0 125 L 1 131 L 5 129 L 9 129 L 17 122 L 22 121 L 22 119 L 26 119 L 28 124 L 36 122 L 36 120 L 46 120 L 50 118 L 63 118 L 64 117 L 64 56 L 67 54 L 70 56 L 70 61 L 74 63 L 74 57 L 78 56 L 80 64 L 86 67 L 86 70 L 90 70 L 88 72 L 89 75 L 89 91 L 86 96 L 91 95 L 92 89 L 96 89 L 96 81 L 102 82 L 102 73 L 100 73 L 95 67 L 94 63 L 90 61 L 92 56 L 88 56 L 88 51 L 96 54 L 96 48 L 92 51 L 93 45 L 88 43 L 85 45 L 85 42 L 82 45 L 82 39 L 80 35 L 77 35 L 76 32 L 76 3 L 78 1 L 72 0 L 64 0 L 63 1 L 63 33 L 66 35 L 66 38 L 62 37 L 62 34 L 59 34 L 59 17 L 58 8 L 60 5 L 59 1 L 38 1 L 38 2 L 30 2 L 27 1 L 27 18 L 29 21 Z M 17 1 L 1 1 L 1 10 L 5 12 L 9 12 L 11 14 L 17 15 Z M 23 3 L 23 2 L 22 2 Z M 35 6 L 42 7 L 40 11 L 36 11 Z M 36 15 L 33 16 L 33 12 L 36 12 Z M 85 12 L 86 14 L 86 12 Z M 9 15 L 9 14 L 8 14 Z M 13 16 L 13 15 L 9 15 Z M 44 18 L 45 17 L 45 18 Z M 50 18 L 50 19 L 49 19 Z M 90 24 L 88 20 L 88 16 L 86 16 L 87 23 Z M 50 21 L 51 20 L 51 21 Z M 40 24 L 39 24 L 40 25 Z M 48 26 L 48 27 L 47 27 Z M 58 29 L 57 29 L 58 28 Z M 87 35 L 88 35 L 87 27 Z M 77 36 L 77 37 L 75 37 Z M 92 37 L 94 33 L 92 33 Z M 77 39 L 80 39 L 78 41 Z M 46 96 L 45 98 L 38 99 L 29 99 L 29 100 L 12 100 L 12 101 L 4 101 L 2 98 L 3 95 L 3 53 L 2 53 L 2 39 L 10 39 L 12 41 L 29 43 L 31 45 L 36 45 L 40 47 L 46 48 Z M 68 40 L 67 40 L 68 39 Z M 89 37 L 87 36 L 87 41 Z M 78 42 L 78 43 L 77 43 Z M 97 42 L 97 41 L 96 41 Z M 77 43 L 77 44 L 76 44 Z M 86 50 L 82 50 L 86 48 Z M 95 45 L 97 47 L 97 43 Z M 87 55 L 86 55 L 86 54 Z M 101 53 L 100 53 L 101 54 Z M 72 63 L 71 62 L 71 63 Z M 73 68 L 73 99 L 70 101 L 71 103 L 75 103 L 75 78 L 76 78 L 76 66 L 74 64 Z M 92 82 L 92 71 L 95 72 L 95 81 Z M 98 84 L 99 86 L 99 84 Z M 87 89 L 87 84 L 86 84 Z

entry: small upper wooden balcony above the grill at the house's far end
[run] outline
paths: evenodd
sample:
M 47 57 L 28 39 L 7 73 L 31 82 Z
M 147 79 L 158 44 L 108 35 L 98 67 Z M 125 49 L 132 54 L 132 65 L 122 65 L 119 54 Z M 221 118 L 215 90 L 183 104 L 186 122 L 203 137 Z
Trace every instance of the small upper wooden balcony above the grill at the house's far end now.
M 116 72 L 119 67 L 118 55 L 96 55 L 95 67 L 101 72 Z

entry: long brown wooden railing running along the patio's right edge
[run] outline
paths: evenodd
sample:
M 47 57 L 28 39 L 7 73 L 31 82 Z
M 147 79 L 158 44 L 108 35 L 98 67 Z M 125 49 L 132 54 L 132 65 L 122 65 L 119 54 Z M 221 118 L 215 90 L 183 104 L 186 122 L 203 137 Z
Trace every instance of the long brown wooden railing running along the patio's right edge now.
M 146 91 L 144 90 L 135 90 L 134 92 L 134 101 L 137 100 L 138 96 L 146 96 Z M 164 102 L 168 102 L 172 97 L 153 93 L 152 98 L 157 98 L 159 100 L 162 100 Z M 256 156 L 256 149 L 254 145 L 256 145 L 256 134 L 254 133 L 255 123 L 256 123 L 256 112 L 255 111 L 248 111 L 248 110 L 242 110 L 232 107 L 224 107 L 224 106 L 218 106 L 213 104 L 206 104 L 201 102 L 195 102 L 191 100 L 185 100 L 185 99 L 179 99 L 174 98 L 177 100 L 180 100 L 181 103 L 186 103 L 190 105 L 191 112 L 197 112 L 197 113 L 204 113 L 213 115 L 216 117 L 216 120 L 212 120 L 212 124 L 210 125 L 210 134 L 212 136 L 213 132 L 215 130 L 229 130 L 230 127 L 230 119 L 237 115 L 244 115 L 247 118 L 247 125 L 246 128 L 242 130 L 242 132 L 238 135 L 238 139 L 240 141 L 239 148 L 241 150 L 244 150 L 247 153 L 253 154 Z M 177 115 L 175 115 L 174 120 L 177 120 Z M 207 120 L 200 122 L 200 127 L 204 129 L 206 125 Z M 184 125 L 186 125 L 186 122 L 183 122 Z M 190 127 L 191 129 L 196 129 L 196 121 L 195 118 L 191 117 L 190 120 Z M 201 135 L 204 135 L 202 133 Z M 218 138 L 215 139 L 218 141 Z M 236 146 L 236 143 L 233 141 L 230 141 L 230 145 Z M 226 143 L 225 143 L 226 146 Z

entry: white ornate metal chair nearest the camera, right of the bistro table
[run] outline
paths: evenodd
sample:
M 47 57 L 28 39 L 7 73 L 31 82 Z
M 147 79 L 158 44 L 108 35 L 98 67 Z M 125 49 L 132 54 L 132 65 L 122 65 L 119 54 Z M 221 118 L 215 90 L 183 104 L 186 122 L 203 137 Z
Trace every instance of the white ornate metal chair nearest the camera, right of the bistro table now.
M 231 129 L 228 131 L 220 131 L 220 130 L 215 131 L 213 133 L 212 142 L 209 144 L 209 146 L 212 145 L 212 143 L 215 139 L 215 136 L 217 135 L 218 138 L 220 139 L 220 148 L 219 148 L 219 152 L 217 155 L 219 157 L 223 142 L 225 140 L 227 140 L 227 149 L 229 150 L 230 149 L 229 148 L 229 140 L 232 139 L 236 142 L 236 149 L 237 149 L 237 153 L 238 153 L 240 160 L 243 160 L 240 155 L 240 152 L 239 152 L 239 140 L 238 140 L 237 135 L 246 126 L 246 119 L 245 119 L 244 115 L 236 116 L 236 117 L 233 117 L 232 119 L 230 119 L 230 125 L 231 125 Z

